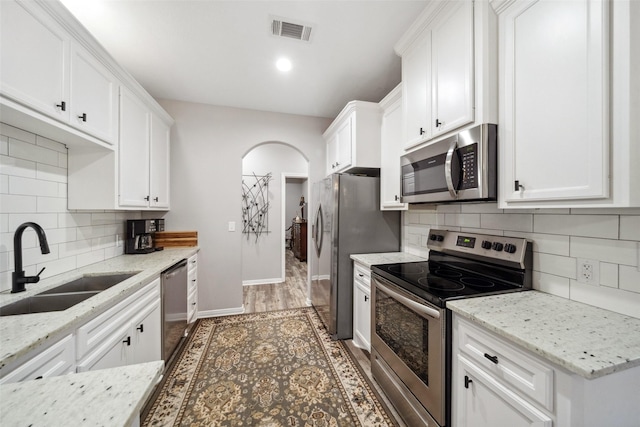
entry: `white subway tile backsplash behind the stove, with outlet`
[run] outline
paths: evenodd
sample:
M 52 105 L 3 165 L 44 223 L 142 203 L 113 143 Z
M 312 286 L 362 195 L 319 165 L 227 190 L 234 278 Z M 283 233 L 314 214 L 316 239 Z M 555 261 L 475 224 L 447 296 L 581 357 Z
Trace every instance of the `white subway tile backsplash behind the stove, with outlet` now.
M 403 221 L 404 250 L 423 256 L 431 227 L 530 239 L 535 289 L 640 318 L 640 209 L 414 205 Z M 596 261 L 599 285 L 578 283 L 578 258 Z

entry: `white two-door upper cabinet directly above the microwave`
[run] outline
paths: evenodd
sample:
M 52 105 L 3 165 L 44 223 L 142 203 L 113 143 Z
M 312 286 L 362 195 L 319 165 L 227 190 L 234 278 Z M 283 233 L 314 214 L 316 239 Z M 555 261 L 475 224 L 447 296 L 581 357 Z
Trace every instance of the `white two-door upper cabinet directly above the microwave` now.
M 497 20 L 486 0 L 430 3 L 396 44 L 404 148 L 497 121 Z

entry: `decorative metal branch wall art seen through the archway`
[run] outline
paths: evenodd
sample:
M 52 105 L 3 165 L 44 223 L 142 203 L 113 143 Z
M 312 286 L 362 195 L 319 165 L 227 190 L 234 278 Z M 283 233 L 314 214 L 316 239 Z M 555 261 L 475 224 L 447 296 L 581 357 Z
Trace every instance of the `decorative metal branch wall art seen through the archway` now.
M 269 232 L 269 181 L 266 175 L 242 175 L 242 232 L 258 237 Z

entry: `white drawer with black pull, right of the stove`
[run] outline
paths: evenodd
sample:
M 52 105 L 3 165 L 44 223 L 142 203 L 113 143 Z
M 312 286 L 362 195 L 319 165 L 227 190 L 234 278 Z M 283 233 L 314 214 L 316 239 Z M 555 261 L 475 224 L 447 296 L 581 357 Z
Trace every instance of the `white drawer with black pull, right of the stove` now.
M 553 369 L 500 338 L 458 319 L 459 349 L 509 388 L 553 411 Z

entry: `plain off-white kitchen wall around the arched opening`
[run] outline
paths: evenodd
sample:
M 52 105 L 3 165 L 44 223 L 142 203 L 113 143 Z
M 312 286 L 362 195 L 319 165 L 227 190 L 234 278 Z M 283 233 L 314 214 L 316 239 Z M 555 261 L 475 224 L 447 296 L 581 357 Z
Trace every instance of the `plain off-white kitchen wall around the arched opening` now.
M 174 118 L 171 131 L 171 211 L 174 230 L 198 230 L 199 309 L 242 309 L 242 158 L 255 146 L 279 141 L 309 160 L 309 179 L 324 176 L 322 133 L 330 120 L 237 108 L 159 101 Z M 228 231 L 229 222 L 236 231 Z

